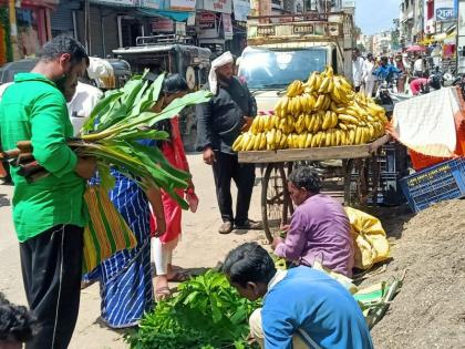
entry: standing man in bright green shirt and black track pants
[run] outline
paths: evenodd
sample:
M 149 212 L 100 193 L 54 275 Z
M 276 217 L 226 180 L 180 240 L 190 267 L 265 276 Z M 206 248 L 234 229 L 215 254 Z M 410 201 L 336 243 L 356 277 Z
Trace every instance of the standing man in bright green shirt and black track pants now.
M 34 158 L 50 173 L 28 183 L 11 168 L 24 289 L 39 325 L 28 349 L 66 348 L 78 319 L 86 224 L 83 193 L 95 161 L 78 158 L 65 143 L 73 127 L 63 91 L 76 84 L 87 64 L 78 41 L 58 37 L 45 43 L 30 73 L 14 76 L 0 103 L 2 148 L 31 141 Z

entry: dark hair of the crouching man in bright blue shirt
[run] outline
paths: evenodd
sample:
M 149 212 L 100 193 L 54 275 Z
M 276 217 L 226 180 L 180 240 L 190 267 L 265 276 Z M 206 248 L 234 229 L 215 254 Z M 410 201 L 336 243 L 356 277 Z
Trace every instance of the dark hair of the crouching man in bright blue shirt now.
M 246 243 L 228 254 L 223 273 L 231 283 L 246 287 L 247 283 L 268 284 L 276 274 L 276 267 L 264 247 Z

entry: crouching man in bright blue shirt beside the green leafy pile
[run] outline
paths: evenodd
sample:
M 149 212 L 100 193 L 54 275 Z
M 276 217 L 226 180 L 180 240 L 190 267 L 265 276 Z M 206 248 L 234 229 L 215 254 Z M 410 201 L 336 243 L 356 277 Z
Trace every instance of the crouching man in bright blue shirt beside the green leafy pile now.
M 359 305 L 324 273 L 304 266 L 277 270 L 256 243 L 231 250 L 223 270 L 240 296 L 264 298 L 264 307 L 249 320 L 262 348 L 373 348 Z

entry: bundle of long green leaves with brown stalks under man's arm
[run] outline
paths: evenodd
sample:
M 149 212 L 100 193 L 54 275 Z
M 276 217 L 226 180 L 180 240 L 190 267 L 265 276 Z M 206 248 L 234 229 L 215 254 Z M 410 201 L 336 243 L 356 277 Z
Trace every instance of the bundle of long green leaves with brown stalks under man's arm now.
M 101 185 L 105 189 L 114 187 L 115 181 L 110 170 L 115 168 L 143 188 L 155 184 L 183 208 L 188 208 L 187 203 L 175 189 L 187 188 L 190 175 L 174 168 L 156 146 L 146 146 L 141 141 L 167 140 L 166 132 L 154 130 L 152 126 L 178 115 L 188 105 L 208 102 L 210 93 L 198 91 L 186 94 L 156 113 L 152 110 L 158 101 L 164 74 L 158 75 L 155 81 L 149 81 L 145 79 L 147 73 L 134 76 L 122 89 L 107 92 L 84 124 L 83 134 L 70 138 L 68 145 L 78 156 L 94 156 L 97 160 Z M 13 166 L 21 166 L 19 173 L 31 181 L 48 175 L 33 158 L 31 145 L 20 143 L 22 144 L 18 144 L 18 151 L 2 153 L 0 157 L 8 160 Z

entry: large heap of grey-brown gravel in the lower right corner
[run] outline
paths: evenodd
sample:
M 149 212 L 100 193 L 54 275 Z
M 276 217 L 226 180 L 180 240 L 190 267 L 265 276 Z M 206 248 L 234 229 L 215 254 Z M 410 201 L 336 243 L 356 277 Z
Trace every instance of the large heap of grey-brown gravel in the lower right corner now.
M 465 348 L 465 201 L 416 216 L 402 208 L 380 217 L 392 260 L 370 285 L 406 270 L 402 289 L 373 328 L 375 348 Z

